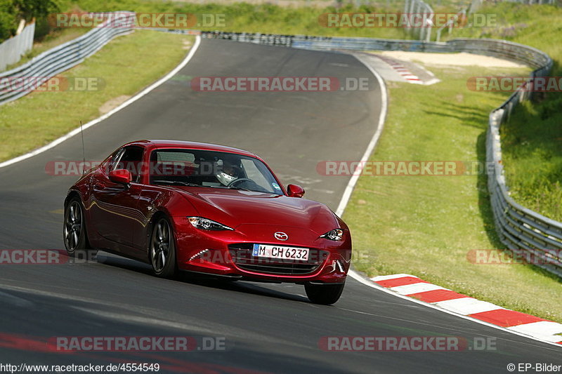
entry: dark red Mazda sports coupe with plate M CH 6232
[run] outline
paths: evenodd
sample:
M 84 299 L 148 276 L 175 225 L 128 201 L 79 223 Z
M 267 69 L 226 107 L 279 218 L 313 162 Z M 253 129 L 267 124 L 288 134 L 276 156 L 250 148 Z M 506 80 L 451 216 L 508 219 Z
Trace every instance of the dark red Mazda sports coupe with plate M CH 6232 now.
M 327 206 L 285 188 L 255 154 L 172 140 L 126 144 L 70 187 L 67 253 L 103 250 L 230 280 L 303 284 L 336 302 L 351 261 L 349 229 Z

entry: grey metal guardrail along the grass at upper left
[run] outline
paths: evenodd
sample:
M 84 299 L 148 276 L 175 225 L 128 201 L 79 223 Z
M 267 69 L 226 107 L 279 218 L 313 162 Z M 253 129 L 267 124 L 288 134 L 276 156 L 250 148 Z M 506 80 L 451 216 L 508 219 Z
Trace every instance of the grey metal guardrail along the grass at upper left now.
M 134 22 L 121 22 L 115 26 L 116 20 L 129 20 L 135 13 L 119 12 L 115 18 L 98 25 L 77 39 L 67 41 L 51 48 L 24 65 L 0 73 L 0 105 L 21 98 L 34 91 L 52 76 L 78 65 L 84 58 L 93 55 L 115 36 L 131 32 Z

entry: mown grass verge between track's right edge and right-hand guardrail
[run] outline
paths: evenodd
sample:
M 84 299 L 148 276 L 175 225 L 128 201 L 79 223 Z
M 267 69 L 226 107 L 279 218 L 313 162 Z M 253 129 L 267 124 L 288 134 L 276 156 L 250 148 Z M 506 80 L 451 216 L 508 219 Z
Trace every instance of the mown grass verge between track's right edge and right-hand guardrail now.
M 469 76 L 525 69 L 432 69 L 433 86 L 389 86 L 372 161 L 485 161 L 488 113 L 507 93 L 466 89 Z M 355 266 L 370 276 L 407 273 L 502 307 L 562 321 L 562 282 L 525 265 L 474 265 L 467 253 L 503 248 L 485 175 L 359 178 L 344 213 Z

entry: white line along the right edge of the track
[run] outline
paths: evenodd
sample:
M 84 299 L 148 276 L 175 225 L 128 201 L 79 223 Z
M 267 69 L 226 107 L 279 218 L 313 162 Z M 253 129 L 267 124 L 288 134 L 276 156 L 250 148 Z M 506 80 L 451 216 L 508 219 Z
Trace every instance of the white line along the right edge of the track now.
M 386 94 L 386 84 L 384 83 L 384 80 L 382 79 L 380 74 L 376 70 L 374 70 L 372 67 L 370 67 L 367 63 L 363 62 L 358 56 L 355 55 L 354 57 L 357 58 L 363 65 L 365 65 L 365 67 L 367 67 L 367 69 L 370 70 L 370 72 L 375 76 L 375 78 L 377 78 L 377 81 L 379 81 L 379 85 L 381 86 L 381 115 L 379 116 L 379 127 L 377 128 L 377 131 L 374 133 L 373 138 L 372 138 L 371 142 L 369 143 L 369 145 L 367 146 L 367 150 L 365 151 L 365 154 L 363 154 L 362 159 L 361 159 L 361 161 L 367 161 L 369 159 L 369 156 L 371 155 L 374 147 L 377 145 L 377 142 L 379 141 L 379 138 L 381 137 L 382 128 L 384 126 L 384 119 L 386 117 L 386 110 L 388 109 L 388 99 L 387 99 L 387 94 Z M 362 164 L 365 164 L 365 162 L 360 163 L 360 165 L 362 165 Z M 341 200 L 339 201 L 339 206 L 336 210 L 336 214 L 339 215 L 339 217 L 341 217 L 341 215 L 344 213 L 344 211 L 346 209 L 346 206 L 347 206 L 347 204 L 349 202 L 349 199 L 351 197 L 351 192 L 353 192 L 353 188 L 355 187 L 355 184 L 357 183 L 357 180 L 359 179 L 359 174 L 360 173 L 355 173 L 351 177 L 351 179 L 349 180 L 349 182 L 347 184 L 346 190 L 344 191 L 344 195 L 341 196 Z M 392 290 L 389 290 L 388 288 L 384 288 L 382 286 L 379 286 L 377 283 L 374 283 L 373 281 L 371 281 L 370 279 L 362 276 L 358 272 L 355 272 L 355 270 L 353 270 L 353 269 L 349 269 L 348 275 L 351 276 L 351 278 L 355 279 L 355 281 L 358 281 L 359 283 L 362 283 L 367 287 L 375 288 L 375 289 L 377 289 L 381 292 L 388 293 L 388 295 L 396 296 L 396 298 L 409 300 L 410 302 L 414 302 L 414 303 L 419 304 L 419 305 L 425 305 L 426 307 L 429 307 L 431 309 L 436 309 L 440 312 L 451 314 L 452 316 L 457 316 L 457 317 L 462 318 L 462 319 L 473 321 L 474 323 L 479 323 L 483 326 L 488 326 L 488 327 L 491 327 L 491 328 L 495 328 L 497 330 L 502 330 L 502 331 L 506 331 L 508 333 L 512 333 L 514 335 L 519 335 L 519 336 L 522 336 L 523 338 L 528 338 L 528 339 L 531 339 L 531 340 L 537 340 L 538 342 L 543 342 L 543 343 L 553 345 L 554 347 L 558 347 L 558 348 L 560 347 L 560 345 L 555 343 L 555 342 L 549 342 L 548 340 L 542 340 L 542 339 L 539 339 L 539 338 L 535 338 L 535 337 L 527 335 L 525 333 L 520 333 L 517 330 L 510 330 L 508 328 L 493 325 L 492 323 L 484 322 L 484 321 L 481 321 L 479 319 L 474 319 L 474 318 L 469 317 L 469 316 L 464 316 L 462 314 L 451 312 L 447 309 L 442 309 L 440 307 L 436 307 L 435 305 L 431 305 L 431 304 L 429 304 L 427 302 L 423 302 L 421 300 L 410 298 L 410 297 L 405 296 L 405 295 L 400 295 L 399 293 L 393 292 Z M 395 278 L 395 276 L 389 276 L 388 277 L 388 279 L 392 279 L 392 278 Z

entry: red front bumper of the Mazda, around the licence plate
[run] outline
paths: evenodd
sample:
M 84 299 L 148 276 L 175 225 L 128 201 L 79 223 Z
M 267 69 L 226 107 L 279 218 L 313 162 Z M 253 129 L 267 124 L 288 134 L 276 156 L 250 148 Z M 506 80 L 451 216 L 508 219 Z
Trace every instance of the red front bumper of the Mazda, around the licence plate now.
M 232 279 L 290 283 L 344 283 L 351 261 L 351 238 L 329 241 L 299 227 L 242 225 L 235 231 L 195 229 L 185 217 L 174 218 L 178 268 L 190 272 L 228 276 Z M 283 231 L 287 241 L 276 241 Z M 273 260 L 254 258 L 254 243 L 310 248 L 309 258 Z

